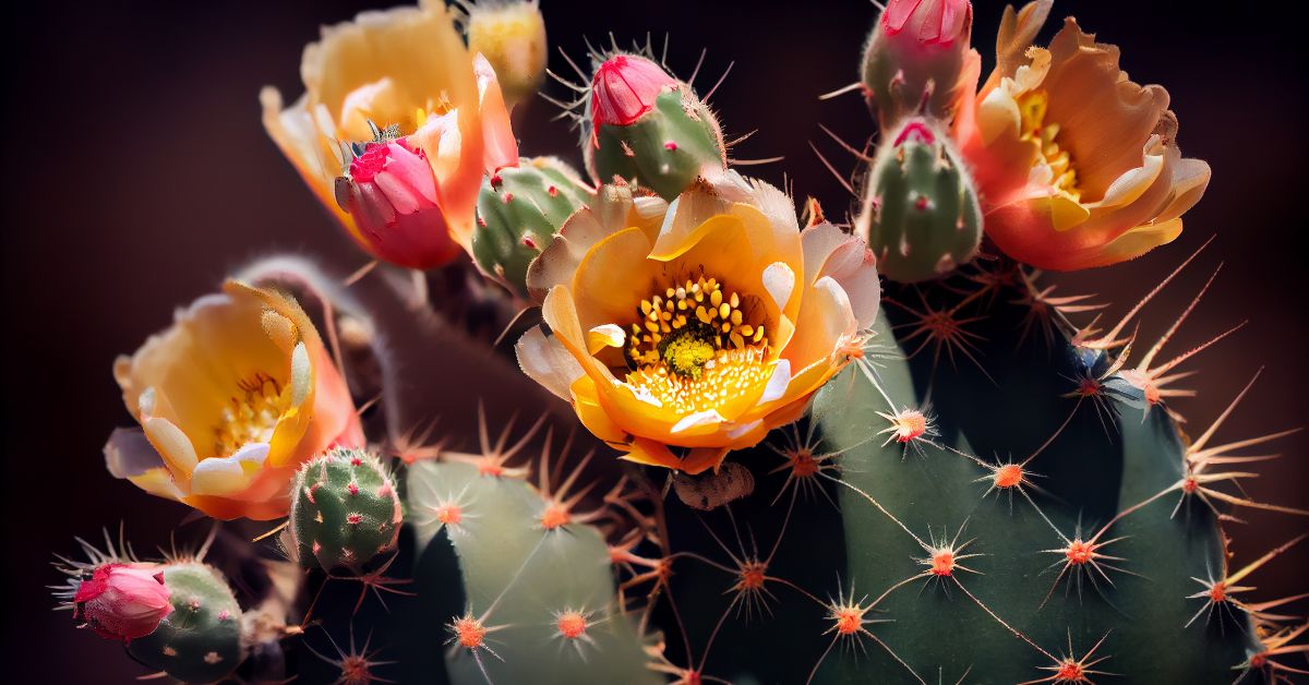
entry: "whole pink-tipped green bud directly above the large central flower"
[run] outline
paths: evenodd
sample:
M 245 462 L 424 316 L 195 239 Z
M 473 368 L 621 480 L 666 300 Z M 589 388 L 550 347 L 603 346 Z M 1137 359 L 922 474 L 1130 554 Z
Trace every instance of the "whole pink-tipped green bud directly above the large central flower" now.
M 597 183 L 618 177 L 672 200 L 726 166 L 723 130 L 709 107 L 690 85 L 637 55 L 614 55 L 596 68 L 580 120 L 586 172 Z

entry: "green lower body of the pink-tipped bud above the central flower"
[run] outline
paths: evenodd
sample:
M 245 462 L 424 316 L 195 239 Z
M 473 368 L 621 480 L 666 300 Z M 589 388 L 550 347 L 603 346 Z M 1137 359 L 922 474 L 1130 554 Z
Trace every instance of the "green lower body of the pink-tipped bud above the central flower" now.
M 719 122 L 690 88 L 661 93 L 654 109 L 628 126 L 584 127 L 586 170 L 598 183 L 615 176 L 635 181 L 666 200 L 707 172 L 726 166 Z

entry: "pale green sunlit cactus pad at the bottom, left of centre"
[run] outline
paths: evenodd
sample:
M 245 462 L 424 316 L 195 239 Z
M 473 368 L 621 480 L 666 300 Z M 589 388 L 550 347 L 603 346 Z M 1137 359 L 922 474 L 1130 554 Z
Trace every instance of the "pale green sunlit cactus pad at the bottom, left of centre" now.
M 466 597 L 440 618 L 444 627 L 436 618 L 427 627 L 433 650 L 446 643 L 452 682 L 660 681 L 647 669 L 632 618 L 618 612 L 596 528 L 551 520 L 547 500 L 528 483 L 483 475 L 471 464 L 420 462 L 408 472 L 407 492 L 418 549 L 425 550 L 415 574 L 419 596 L 450 596 L 448 583 L 458 579 Z M 452 546 L 454 554 L 442 553 Z M 469 618 L 486 629 L 484 647 L 461 642 L 476 637 L 471 623 L 458 629 Z

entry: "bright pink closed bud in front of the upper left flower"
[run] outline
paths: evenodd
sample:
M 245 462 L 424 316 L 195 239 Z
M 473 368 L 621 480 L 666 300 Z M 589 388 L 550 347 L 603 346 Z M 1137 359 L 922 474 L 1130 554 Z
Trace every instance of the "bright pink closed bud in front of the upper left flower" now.
M 407 140 L 369 143 L 336 181 L 336 202 L 355 219 L 356 237 L 380 259 L 431 268 L 459 251 L 450 237 L 427 155 Z

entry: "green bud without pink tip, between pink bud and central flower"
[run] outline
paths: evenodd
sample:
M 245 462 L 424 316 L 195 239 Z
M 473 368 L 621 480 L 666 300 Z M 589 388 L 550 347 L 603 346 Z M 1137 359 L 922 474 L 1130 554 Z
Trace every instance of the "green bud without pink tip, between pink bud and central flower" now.
M 473 258 L 482 271 L 525 297 L 528 265 L 594 193 L 555 157 L 524 157 L 482 181 Z

